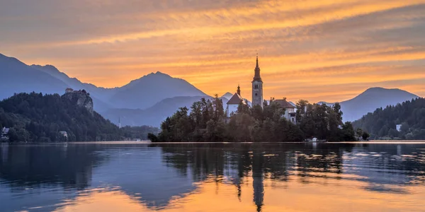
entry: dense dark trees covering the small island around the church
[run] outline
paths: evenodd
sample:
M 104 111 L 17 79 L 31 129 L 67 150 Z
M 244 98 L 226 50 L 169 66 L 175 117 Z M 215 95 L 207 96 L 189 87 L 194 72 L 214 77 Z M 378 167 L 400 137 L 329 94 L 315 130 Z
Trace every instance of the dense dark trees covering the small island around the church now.
M 311 105 L 297 102 L 297 124 L 283 117 L 285 109 L 278 102 L 264 102 L 249 107 L 241 102 L 237 113 L 227 118 L 223 103 L 217 95 L 213 100 L 201 99 L 189 110 L 181 107 L 161 124 L 158 136 L 151 141 L 234 141 L 234 142 L 291 142 L 317 137 L 328 141 L 355 141 L 351 122 L 342 123 L 341 107 L 336 103 Z

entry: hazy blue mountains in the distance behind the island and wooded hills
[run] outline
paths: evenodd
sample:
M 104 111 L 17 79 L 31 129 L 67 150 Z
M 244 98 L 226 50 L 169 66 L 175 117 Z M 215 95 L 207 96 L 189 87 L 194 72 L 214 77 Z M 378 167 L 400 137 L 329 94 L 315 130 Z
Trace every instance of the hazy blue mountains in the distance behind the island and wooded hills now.
M 70 78 L 55 66 L 28 66 L 18 59 L 0 54 L 0 74 L 0 99 L 21 92 L 62 94 L 65 88 L 84 89 L 94 100 L 94 110 L 116 124 L 120 119 L 122 125 L 159 126 L 179 107 L 190 107 L 200 98 L 212 98 L 187 81 L 159 71 L 120 88 L 101 88 Z M 222 95 L 223 103 L 232 95 L 233 93 Z M 356 98 L 341 102 L 344 122 L 359 119 L 378 107 L 396 105 L 412 98 L 418 96 L 399 89 L 369 88 Z

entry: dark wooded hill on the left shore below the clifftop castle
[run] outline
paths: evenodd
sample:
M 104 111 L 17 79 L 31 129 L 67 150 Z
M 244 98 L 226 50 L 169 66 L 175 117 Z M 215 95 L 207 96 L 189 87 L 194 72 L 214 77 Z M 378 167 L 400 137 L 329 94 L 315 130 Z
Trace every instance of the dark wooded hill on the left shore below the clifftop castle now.
M 154 131 L 149 127 L 119 129 L 68 98 L 41 93 L 19 93 L 1 101 L 0 128 L 3 126 L 10 128 L 9 141 L 122 141 L 133 136 L 147 139 L 148 131 Z

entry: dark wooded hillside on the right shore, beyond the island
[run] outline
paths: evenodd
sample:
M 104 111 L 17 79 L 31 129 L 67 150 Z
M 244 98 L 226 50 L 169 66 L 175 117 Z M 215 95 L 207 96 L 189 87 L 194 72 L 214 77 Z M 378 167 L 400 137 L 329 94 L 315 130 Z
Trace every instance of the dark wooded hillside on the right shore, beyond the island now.
M 397 124 L 401 124 L 400 131 Z M 378 108 L 353 122 L 353 126 L 368 131 L 371 139 L 425 140 L 425 99 Z

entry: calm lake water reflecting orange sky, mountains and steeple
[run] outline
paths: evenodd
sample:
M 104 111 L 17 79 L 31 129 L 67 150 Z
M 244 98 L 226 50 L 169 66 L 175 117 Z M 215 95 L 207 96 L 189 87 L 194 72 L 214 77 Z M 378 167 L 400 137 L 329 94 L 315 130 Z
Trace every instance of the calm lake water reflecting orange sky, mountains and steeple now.
M 425 143 L 0 143 L 0 211 L 424 211 Z

